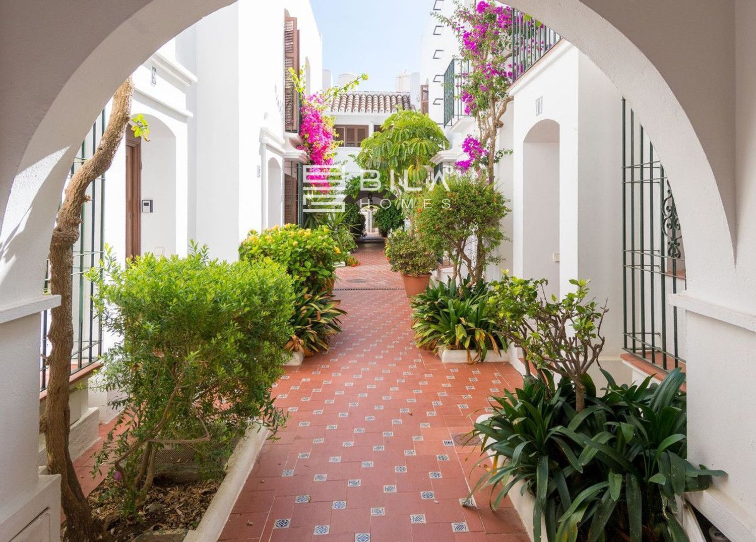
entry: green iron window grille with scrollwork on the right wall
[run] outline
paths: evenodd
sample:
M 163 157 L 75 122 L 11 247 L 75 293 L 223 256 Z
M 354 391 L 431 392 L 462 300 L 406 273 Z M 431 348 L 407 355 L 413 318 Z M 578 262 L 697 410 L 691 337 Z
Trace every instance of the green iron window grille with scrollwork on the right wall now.
M 624 349 L 664 370 L 684 364 L 682 315 L 667 296 L 685 288 L 680 220 L 662 162 L 622 100 Z

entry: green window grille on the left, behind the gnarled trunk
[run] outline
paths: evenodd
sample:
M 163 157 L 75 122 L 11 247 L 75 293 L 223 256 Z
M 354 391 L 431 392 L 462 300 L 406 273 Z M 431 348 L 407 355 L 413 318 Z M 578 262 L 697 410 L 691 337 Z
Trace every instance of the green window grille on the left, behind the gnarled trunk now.
M 68 178 L 73 176 L 86 160 L 91 158 L 105 129 L 105 111 L 100 114 L 82 141 L 79 153 L 71 165 Z M 79 240 L 73 246 L 73 351 L 71 352 L 71 373 L 88 367 L 98 361 L 102 355 L 102 322 L 96 314 L 92 296 L 95 285 L 86 280 L 85 273 L 97 266 L 104 251 L 104 217 L 105 217 L 105 176 L 93 181 L 87 188 L 88 201 L 82 206 L 82 223 L 79 227 Z M 45 290 L 48 278 L 45 278 Z M 48 326 L 50 311 L 42 313 L 42 330 L 40 333 L 39 389 L 47 388 L 47 364 L 45 360 L 50 352 Z

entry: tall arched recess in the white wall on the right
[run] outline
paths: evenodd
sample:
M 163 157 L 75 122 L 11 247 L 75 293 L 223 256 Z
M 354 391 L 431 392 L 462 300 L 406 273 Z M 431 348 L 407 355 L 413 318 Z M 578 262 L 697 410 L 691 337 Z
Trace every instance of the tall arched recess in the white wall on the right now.
M 522 150 L 522 276 L 546 278 L 559 296 L 559 124 L 534 125 Z

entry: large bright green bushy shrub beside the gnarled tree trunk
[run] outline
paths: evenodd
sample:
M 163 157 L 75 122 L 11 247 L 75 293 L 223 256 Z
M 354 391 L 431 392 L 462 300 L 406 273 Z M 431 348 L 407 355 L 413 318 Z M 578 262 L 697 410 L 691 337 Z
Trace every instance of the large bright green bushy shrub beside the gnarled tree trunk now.
M 125 268 L 110 255 L 88 277 L 108 330 L 104 388 L 121 410 L 98 454 L 114 462 L 134 513 L 153 482 L 156 451 L 187 447 L 206 473 L 255 420 L 274 431 L 283 414 L 271 386 L 291 335 L 292 279 L 280 266 L 147 254 Z M 116 474 L 117 473 L 117 474 Z

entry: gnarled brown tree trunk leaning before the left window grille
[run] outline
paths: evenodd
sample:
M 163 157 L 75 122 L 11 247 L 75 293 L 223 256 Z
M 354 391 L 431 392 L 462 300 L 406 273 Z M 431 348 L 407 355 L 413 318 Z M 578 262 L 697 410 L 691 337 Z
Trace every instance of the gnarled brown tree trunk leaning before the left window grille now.
M 47 359 L 49 380 L 42 426 L 45 429 L 48 469 L 52 474 L 60 474 L 60 497 L 66 514 L 69 540 L 101 540 L 106 536 L 101 523 L 91 515 L 68 449 L 71 418 L 68 405 L 69 377 L 73 352 L 73 244 L 79 239 L 87 187 L 110 168 L 129 125 L 133 92 L 134 85 L 129 77 L 113 95 L 113 110 L 107 128 L 91 159 L 76 171 L 66 187 L 50 243 L 50 291 L 60 296 L 60 306 L 52 309 L 48 333 L 52 348 Z

